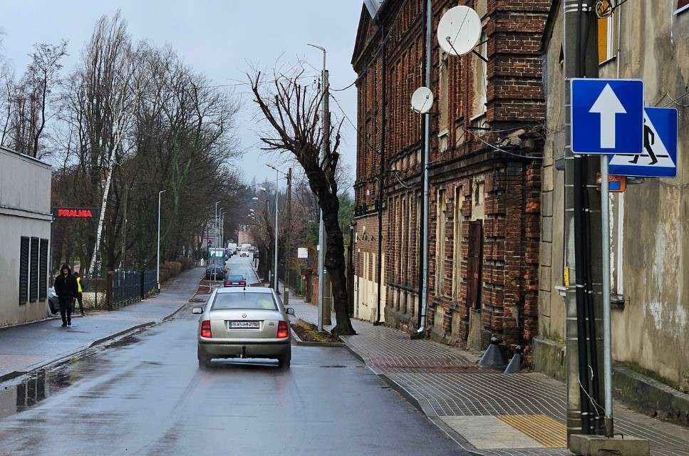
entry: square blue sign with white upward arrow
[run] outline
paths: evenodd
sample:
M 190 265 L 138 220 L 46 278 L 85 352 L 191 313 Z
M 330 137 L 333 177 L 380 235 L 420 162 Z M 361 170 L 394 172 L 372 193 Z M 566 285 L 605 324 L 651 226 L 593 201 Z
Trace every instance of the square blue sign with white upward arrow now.
M 575 154 L 640 154 L 643 81 L 572 79 L 571 150 Z

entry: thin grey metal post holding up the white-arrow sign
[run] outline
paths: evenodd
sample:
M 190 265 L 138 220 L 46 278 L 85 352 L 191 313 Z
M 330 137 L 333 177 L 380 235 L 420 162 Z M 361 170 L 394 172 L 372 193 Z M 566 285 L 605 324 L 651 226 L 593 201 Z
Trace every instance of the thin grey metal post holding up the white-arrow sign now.
M 610 198 L 608 156 L 601 155 L 601 240 L 603 246 L 603 397 L 606 437 L 613 436 L 612 329 L 610 323 Z

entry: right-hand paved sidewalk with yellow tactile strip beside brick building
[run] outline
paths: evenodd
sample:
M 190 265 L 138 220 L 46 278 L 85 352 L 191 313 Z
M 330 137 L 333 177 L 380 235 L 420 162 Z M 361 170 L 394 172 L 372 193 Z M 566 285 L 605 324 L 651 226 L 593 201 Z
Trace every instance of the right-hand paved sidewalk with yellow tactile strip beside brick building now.
M 316 323 L 316 306 L 289 296 L 296 316 Z M 334 315 L 333 315 L 334 321 Z M 477 359 L 387 326 L 352 321 L 343 340 L 465 450 L 478 455 L 571 455 L 566 450 L 566 387 L 539 373 L 477 367 Z M 688 456 L 689 430 L 615 405 L 616 432 L 651 442 L 651 455 Z

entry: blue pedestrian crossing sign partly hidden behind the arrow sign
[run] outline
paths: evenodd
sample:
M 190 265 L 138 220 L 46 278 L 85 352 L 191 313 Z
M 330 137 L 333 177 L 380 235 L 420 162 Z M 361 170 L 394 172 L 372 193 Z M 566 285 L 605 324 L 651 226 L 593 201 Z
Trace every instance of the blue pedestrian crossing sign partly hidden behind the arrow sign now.
M 677 176 L 677 110 L 644 108 L 643 152 L 610 157 L 611 175 L 632 177 Z

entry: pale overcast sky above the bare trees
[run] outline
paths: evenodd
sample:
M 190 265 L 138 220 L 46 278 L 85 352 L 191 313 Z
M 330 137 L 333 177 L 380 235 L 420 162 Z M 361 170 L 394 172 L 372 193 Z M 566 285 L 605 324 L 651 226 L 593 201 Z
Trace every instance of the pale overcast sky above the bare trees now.
M 65 71 L 76 63 L 90 37 L 95 21 L 117 9 L 128 22 L 134 39 L 157 46 L 169 43 L 196 71 L 218 84 L 246 80 L 252 63 L 271 68 L 276 58 L 286 64 L 306 58 L 318 71 L 322 54 L 306 46 L 315 43 L 328 50 L 331 88 L 348 86 L 356 77 L 351 56 L 361 14 L 357 0 L 23 0 L 2 2 L 0 30 L 4 32 L 4 55 L 14 64 L 17 76 L 26 68 L 28 53 L 36 42 L 68 41 L 70 56 Z M 306 65 L 310 74 L 318 71 Z M 241 166 L 247 181 L 273 177 L 264 162 L 274 157 L 258 152 L 254 133 L 254 103 L 247 86 L 238 86 L 242 100 L 239 138 L 247 149 Z M 335 93 L 343 110 L 356 123 L 356 88 Z M 333 115 L 341 117 L 336 103 Z M 343 128 L 343 161 L 353 166 L 355 130 Z M 260 154 L 260 155 L 259 155 Z

